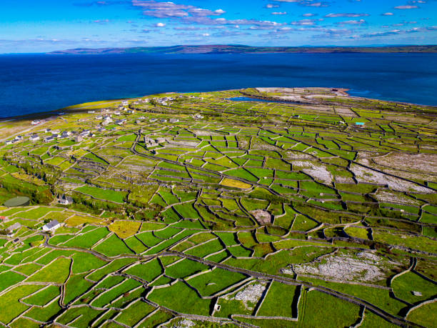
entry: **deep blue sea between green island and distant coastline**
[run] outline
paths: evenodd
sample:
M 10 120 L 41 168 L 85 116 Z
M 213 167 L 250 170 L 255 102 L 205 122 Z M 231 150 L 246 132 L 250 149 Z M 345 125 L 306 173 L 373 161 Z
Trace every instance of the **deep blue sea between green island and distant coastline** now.
M 0 56 L 0 117 L 158 92 L 328 86 L 437 105 L 436 54 Z

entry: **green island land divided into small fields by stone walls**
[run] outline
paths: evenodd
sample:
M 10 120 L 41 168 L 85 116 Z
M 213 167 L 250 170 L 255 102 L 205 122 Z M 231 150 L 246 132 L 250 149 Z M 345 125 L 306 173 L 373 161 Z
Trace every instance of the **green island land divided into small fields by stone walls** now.
M 30 200 L 0 206 L 0 324 L 435 326 L 435 106 L 328 88 L 146 98 L 122 125 L 96 119 L 121 101 L 0 122 L 4 138 L 94 134 L 0 146 L 1 204 Z

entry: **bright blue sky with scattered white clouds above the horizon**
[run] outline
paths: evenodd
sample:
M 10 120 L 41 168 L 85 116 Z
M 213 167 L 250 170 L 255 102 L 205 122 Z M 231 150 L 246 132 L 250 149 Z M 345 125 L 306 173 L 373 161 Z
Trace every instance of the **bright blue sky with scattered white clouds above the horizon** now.
M 1 0 L 0 53 L 437 44 L 437 0 Z

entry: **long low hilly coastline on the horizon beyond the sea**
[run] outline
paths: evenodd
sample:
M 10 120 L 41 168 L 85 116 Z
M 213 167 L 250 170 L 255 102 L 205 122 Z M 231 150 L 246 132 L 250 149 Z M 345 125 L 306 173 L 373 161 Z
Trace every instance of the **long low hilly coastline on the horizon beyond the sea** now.
M 329 54 L 329 53 L 437 53 L 431 46 L 244 46 L 214 44 L 203 46 L 139 46 L 133 48 L 77 48 L 49 54 Z

